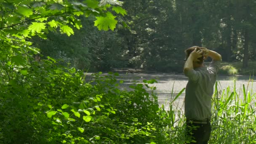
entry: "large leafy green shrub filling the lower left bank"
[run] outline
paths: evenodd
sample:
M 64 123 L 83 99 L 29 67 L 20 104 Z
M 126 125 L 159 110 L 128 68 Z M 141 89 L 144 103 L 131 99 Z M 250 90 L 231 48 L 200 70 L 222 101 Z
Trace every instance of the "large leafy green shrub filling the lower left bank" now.
M 133 84 L 121 91 L 118 73 L 93 75 L 63 67 L 48 57 L 17 69 L 0 83 L 2 143 L 165 143 L 157 96 Z M 10 71 L 7 71 L 11 73 Z

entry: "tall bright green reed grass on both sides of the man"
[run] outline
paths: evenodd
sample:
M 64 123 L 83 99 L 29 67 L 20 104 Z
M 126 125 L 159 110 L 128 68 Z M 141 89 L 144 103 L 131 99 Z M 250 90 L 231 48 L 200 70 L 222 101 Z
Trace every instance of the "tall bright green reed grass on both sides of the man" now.
M 253 80 L 243 84 L 240 88 L 234 81 L 232 88 L 221 87 L 221 83 L 216 82 L 212 97 L 212 117 L 211 117 L 211 138 L 209 144 L 256 144 L 256 93 L 253 89 L 248 90 L 249 85 L 253 85 Z M 171 96 L 170 107 L 165 113 L 170 123 L 163 128 L 165 135 L 171 144 L 184 144 L 185 116 L 183 108 L 173 107 L 173 102 L 181 95 L 184 89 L 176 96 Z

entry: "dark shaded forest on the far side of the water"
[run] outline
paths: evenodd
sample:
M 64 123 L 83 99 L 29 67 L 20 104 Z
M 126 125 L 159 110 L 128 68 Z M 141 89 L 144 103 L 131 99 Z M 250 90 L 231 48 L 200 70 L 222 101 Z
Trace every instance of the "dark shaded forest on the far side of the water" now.
M 255 61 L 254 0 L 125 0 L 129 28 L 98 31 L 95 18 L 81 18 L 83 27 L 70 37 L 50 32 L 33 38 L 44 56 L 64 59 L 88 72 L 135 68 L 181 72 L 184 50 L 203 46 L 219 52 L 224 62 Z

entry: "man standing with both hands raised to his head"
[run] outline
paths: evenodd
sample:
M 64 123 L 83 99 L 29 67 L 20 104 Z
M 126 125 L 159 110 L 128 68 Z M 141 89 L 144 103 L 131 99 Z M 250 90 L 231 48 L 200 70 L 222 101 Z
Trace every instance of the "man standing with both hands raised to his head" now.
M 208 144 L 211 135 L 211 97 L 219 70 L 221 55 L 203 47 L 186 51 L 184 75 L 189 78 L 185 93 L 186 137 L 197 144 Z M 204 59 L 211 57 L 208 67 Z M 190 142 L 189 142 L 190 143 Z

